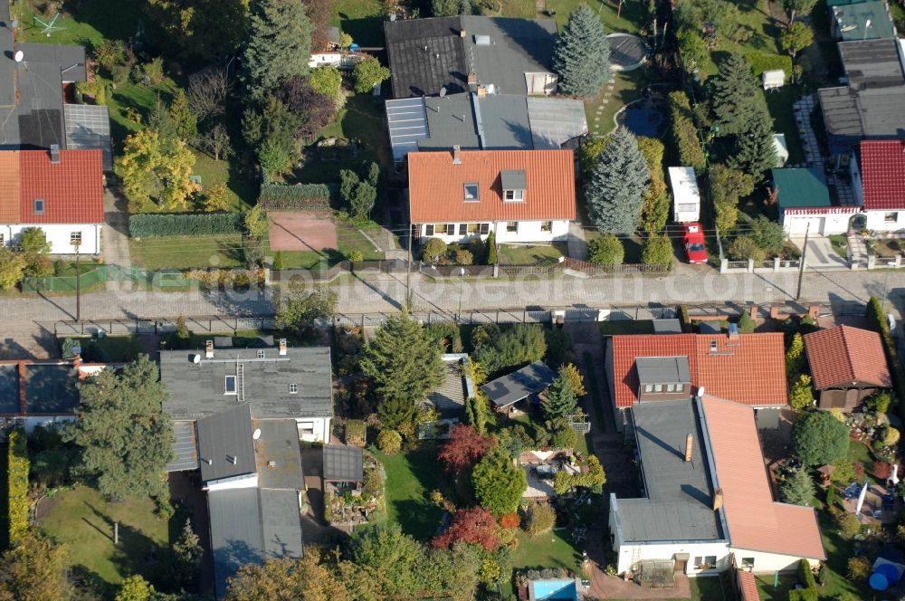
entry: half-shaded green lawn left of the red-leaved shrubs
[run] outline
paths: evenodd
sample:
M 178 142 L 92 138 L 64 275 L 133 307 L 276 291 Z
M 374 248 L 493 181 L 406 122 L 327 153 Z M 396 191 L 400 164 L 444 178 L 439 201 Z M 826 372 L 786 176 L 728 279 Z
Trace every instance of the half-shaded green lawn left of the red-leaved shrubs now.
M 408 453 L 374 454 L 386 470 L 386 519 L 415 539 L 432 538 L 443 513 L 428 498 L 440 488 L 436 447 L 424 444 Z

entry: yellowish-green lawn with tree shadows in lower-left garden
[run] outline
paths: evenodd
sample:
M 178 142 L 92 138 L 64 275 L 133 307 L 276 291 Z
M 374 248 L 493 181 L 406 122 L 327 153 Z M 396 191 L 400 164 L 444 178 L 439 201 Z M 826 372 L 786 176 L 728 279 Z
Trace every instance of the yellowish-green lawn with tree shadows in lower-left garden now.
M 154 513 L 154 502 L 104 501 L 100 492 L 79 486 L 58 491 L 41 529 L 69 548 L 73 567 L 80 567 L 108 584 L 141 574 L 153 580 L 151 570 L 169 545 L 169 525 Z M 113 546 L 113 522 L 119 522 L 119 546 Z

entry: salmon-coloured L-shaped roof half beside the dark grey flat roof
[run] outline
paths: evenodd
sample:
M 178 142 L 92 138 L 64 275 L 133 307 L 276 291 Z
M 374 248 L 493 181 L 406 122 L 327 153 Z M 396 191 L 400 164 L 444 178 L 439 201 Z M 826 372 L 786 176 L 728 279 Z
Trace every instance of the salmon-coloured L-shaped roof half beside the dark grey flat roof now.
M 731 547 L 824 559 L 814 509 L 773 501 L 754 411 L 710 395 L 702 405 Z

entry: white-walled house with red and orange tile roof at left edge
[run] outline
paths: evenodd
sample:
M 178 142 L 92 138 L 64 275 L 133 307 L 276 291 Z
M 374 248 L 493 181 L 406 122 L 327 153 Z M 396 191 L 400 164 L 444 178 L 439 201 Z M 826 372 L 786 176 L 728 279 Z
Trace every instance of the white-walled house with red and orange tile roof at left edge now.
M 98 254 L 103 223 L 100 150 L 0 150 L 0 243 L 40 227 L 52 254 Z

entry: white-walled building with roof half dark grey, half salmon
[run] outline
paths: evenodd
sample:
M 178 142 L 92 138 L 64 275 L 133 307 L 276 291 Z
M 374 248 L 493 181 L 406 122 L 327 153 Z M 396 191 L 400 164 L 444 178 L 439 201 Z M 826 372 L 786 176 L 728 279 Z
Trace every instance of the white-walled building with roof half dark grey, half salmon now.
M 773 499 L 752 407 L 708 394 L 632 411 L 643 497 L 610 494 L 620 575 L 663 586 L 676 573 L 772 574 L 826 558 L 814 509 Z

